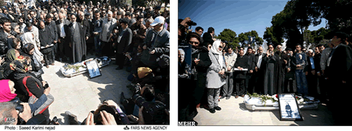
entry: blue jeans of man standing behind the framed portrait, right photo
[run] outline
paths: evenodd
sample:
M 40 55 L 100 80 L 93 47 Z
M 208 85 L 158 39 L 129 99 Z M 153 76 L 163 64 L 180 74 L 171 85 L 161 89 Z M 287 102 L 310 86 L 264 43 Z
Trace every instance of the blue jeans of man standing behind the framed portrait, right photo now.
M 303 69 L 296 69 L 296 81 L 297 92 L 302 95 L 308 95 L 308 83 Z

